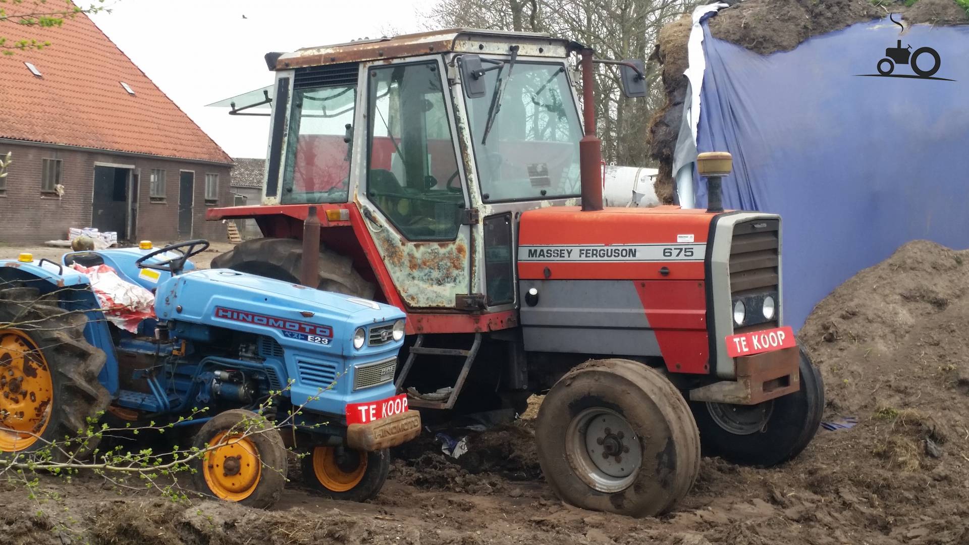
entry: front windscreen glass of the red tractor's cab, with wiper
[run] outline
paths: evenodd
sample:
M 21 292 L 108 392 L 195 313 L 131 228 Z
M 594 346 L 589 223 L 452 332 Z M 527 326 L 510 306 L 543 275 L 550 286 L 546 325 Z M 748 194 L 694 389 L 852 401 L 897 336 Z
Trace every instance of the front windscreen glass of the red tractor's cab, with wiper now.
M 484 97 L 465 99 L 482 198 L 490 203 L 578 196 L 582 132 L 561 64 L 515 63 L 482 144 L 495 80 L 507 75 L 506 61 L 485 72 Z

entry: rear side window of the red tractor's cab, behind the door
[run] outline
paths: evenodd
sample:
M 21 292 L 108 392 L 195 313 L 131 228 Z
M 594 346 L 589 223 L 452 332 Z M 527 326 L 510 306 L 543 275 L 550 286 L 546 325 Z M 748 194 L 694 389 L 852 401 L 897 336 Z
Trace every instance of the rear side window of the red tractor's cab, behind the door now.
M 297 89 L 280 203 L 346 203 L 356 85 Z

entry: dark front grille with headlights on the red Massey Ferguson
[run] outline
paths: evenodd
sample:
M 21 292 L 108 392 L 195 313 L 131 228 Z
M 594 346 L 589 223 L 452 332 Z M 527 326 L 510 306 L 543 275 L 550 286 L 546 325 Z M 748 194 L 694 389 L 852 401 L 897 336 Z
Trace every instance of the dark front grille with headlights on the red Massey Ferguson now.
M 731 305 L 742 300 L 747 318 L 735 332 L 760 330 L 777 326 L 780 315 L 778 299 L 780 279 L 780 222 L 755 219 L 738 223 L 730 249 Z M 764 299 L 774 300 L 775 310 L 766 320 L 762 312 Z

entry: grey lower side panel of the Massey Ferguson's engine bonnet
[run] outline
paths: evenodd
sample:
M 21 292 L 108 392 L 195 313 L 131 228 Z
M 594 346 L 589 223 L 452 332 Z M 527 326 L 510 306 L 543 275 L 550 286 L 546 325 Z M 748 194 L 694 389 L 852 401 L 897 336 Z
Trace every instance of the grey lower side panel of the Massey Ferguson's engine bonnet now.
M 525 297 L 532 288 L 534 306 Z M 661 355 L 630 280 L 521 280 L 518 289 L 525 350 Z

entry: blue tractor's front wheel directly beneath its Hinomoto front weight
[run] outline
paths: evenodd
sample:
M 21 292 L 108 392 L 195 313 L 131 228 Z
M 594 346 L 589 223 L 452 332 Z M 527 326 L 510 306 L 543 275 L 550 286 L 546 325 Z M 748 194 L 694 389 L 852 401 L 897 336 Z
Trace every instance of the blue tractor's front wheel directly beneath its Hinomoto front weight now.
M 389 449 L 374 452 L 316 446 L 302 459 L 303 481 L 333 499 L 364 501 L 376 497 L 391 472 Z

